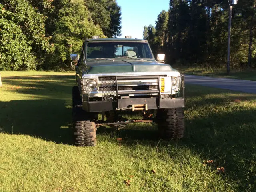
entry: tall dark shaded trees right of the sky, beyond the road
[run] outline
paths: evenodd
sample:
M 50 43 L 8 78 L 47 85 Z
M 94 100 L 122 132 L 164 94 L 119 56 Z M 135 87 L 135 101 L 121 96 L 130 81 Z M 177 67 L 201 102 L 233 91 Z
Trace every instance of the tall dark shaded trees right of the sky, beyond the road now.
M 144 26 L 143 37 L 154 54 L 168 62 L 223 67 L 227 60 L 228 0 L 170 0 L 156 26 Z M 256 67 L 256 0 L 238 0 L 232 9 L 233 68 Z

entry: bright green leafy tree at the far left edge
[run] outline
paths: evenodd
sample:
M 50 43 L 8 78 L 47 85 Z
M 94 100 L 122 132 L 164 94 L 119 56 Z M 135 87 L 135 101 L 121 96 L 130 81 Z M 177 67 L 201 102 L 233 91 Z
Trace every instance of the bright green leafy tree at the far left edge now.
M 0 69 L 35 69 L 33 52 L 52 52 L 45 36 L 45 17 L 27 1 L 4 0 L 0 4 Z

